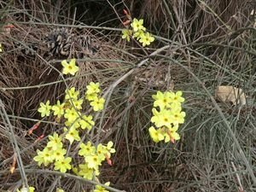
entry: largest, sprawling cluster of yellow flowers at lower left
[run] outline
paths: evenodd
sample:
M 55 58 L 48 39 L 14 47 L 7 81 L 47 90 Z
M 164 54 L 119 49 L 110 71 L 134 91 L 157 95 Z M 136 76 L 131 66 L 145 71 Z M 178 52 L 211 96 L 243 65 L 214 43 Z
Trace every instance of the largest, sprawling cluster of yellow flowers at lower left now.
M 40 103 L 38 112 L 41 113 L 41 117 L 48 117 L 53 113 L 55 119 L 58 122 L 63 122 L 65 127 L 60 136 L 56 132 L 49 136 L 46 147 L 43 150 L 37 150 L 37 155 L 33 160 L 38 162 L 38 166 L 53 164 L 54 169 L 60 172 L 67 172 L 72 169 L 75 174 L 91 180 L 94 176 L 100 174 L 99 167 L 102 165 L 103 160 L 107 160 L 108 164 L 109 161 L 111 162 L 111 154 L 115 153 L 115 149 L 112 148 L 113 142 L 108 142 L 107 145 L 99 143 L 97 146 L 90 142 L 81 143 L 79 145 L 80 157 L 78 166 L 74 166 L 77 163 L 75 159 L 68 157 L 66 148 L 70 148 L 75 141 L 81 141 L 79 131 L 85 129 L 90 131 L 95 125 L 92 115 L 82 113 L 84 100 L 89 102 L 90 107 L 97 112 L 104 108 L 105 99 L 100 97 L 100 84 L 94 82 L 90 82 L 86 86 L 84 97 L 79 97 L 79 90 L 74 87 L 67 89 L 65 93 L 64 102 L 57 101 L 53 106 L 49 104 L 49 101 Z M 69 147 L 65 146 L 67 145 L 65 140 L 69 141 Z M 81 160 L 81 156 L 84 160 Z M 99 189 L 96 186 L 95 191 L 100 191 Z

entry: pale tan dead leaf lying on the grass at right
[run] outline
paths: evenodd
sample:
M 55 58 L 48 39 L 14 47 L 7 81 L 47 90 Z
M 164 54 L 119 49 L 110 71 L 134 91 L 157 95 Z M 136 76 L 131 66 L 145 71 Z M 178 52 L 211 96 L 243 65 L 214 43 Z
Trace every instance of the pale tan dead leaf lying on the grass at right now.
M 245 105 L 246 96 L 240 88 L 233 86 L 218 86 L 215 90 L 215 98 L 219 102 L 231 102 L 232 105 Z

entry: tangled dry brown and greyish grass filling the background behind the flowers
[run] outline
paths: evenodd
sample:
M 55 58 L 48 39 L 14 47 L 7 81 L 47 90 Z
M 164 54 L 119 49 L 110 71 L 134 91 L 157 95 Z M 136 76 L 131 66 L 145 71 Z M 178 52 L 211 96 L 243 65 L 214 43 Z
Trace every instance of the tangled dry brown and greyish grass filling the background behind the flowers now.
M 98 81 L 106 92 L 130 70 L 131 75 L 114 87 L 105 113 L 98 116 L 95 133 L 101 126 L 100 142 L 113 140 L 117 150 L 113 166 L 103 165 L 101 181 L 110 181 L 113 188 L 126 191 L 255 189 L 256 31 L 249 2 L 113 0 L 67 1 L 56 6 L 49 2 L 0 1 L 0 15 L 6 24 L 14 25 L 10 32 L 0 33 L 4 50 L 0 55 L 0 98 L 8 113 L 6 116 L 0 110 L 1 191 L 21 185 L 20 173 L 9 173 L 14 155 L 10 138 L 18 143 L 28 183 L 38 191 L 50 191 L 55 185 L 66 191 L 89 189 L 90 184 L 78 178 L 50 174 L 32 161 L 36 149 L 46 143 L 45 139 L 34 143 L 37 137 L 62 129 L 54 119 L 47 119 L 32 136 L 26 131 L 40 119 L 39 103 L 61 99 L 67 86 L 83 91 L 88 82 Z M 153 48 L 137 48 L 135 42 L 120 40 L 119 31 L 95 27 L 96 22 L 122 26 L 118 18 L 123 17 L 122 9 L 144 18 L 147 28 L 158 35 Z M 82 22 L 92 25 L 73 26 Z M 75 78 L 61 77 L 60 61 L 66 57 L 50 55 L 44 41 L 58 25 L 75 35 L 86 34 L 99 47 L 95 54 L 78 60 L 80 71 Z M 38 47 L 35 52 L 32 44 Z M 165 45 L 168 49 L 150 56 Z M 74 47 L 69 58 L 77 55 L 78 48 Z M 241 87 L 247 106 L 214 105 L 209 93 L 213 95 L 219 84 Z M 148 136 L 151 96 L 156 90 L 166 89 L 183 90 L 187 117 L 179 131 L 179 142 L 155 144 Z M 14 136 L 6 119 L 10 119 Z M 96 135 L 90 139 L 96 141 Z

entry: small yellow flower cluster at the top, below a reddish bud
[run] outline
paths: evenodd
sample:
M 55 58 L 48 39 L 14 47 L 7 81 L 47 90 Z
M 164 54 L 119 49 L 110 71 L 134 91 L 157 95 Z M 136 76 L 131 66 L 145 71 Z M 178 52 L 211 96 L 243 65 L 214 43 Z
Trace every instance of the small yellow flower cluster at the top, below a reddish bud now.
M 128 42 L 130 42 L 130 37 L 136 38 L 143 47 L 151 44 L 154 42 L 154 37 L 149 33 L 146 32 L 146 28 L 143 26 L 143 20 L 137 20 L 134 18 L 131 22 L 131 29 L 124 29 L 122 30 L 122 38 L 125 38 Z

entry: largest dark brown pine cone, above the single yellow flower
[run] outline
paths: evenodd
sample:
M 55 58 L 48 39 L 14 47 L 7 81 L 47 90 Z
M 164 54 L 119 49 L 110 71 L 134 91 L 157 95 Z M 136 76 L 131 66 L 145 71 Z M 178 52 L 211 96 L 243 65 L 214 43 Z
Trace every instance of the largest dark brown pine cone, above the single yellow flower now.
M 71 44 L 73 42 L 73 34 L 70 34 L 67 29 L 58 28 L 45 38 L 49 52 L 52 55 L 69 55 Z

